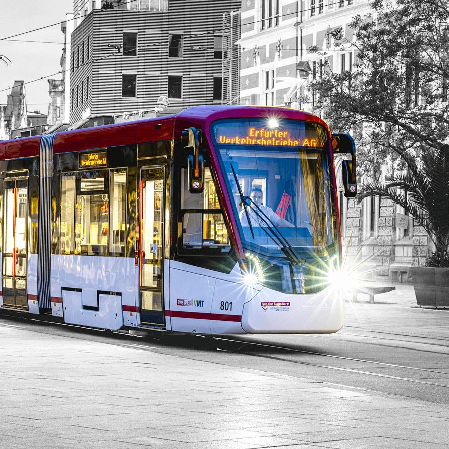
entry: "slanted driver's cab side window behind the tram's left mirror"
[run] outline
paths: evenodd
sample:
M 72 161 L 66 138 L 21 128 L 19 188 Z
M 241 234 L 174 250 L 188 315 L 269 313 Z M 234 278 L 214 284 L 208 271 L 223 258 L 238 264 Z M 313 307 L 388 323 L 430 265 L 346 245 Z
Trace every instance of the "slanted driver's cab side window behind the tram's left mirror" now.
M 229 252 L 231 245 L 211 171 L 205 168 L 204 192 L 192 194 L 187 169 L 181 171 L 181 222 L 178 237 L 186 250 Z

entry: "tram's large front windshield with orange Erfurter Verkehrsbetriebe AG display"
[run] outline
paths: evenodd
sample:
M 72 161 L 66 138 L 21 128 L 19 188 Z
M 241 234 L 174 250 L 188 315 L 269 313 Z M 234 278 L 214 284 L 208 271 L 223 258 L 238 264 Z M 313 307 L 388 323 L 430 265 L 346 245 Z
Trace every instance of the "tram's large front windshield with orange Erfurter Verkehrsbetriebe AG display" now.
M 324 126 L 224 119 L 211 125 L 211 135 L 246 248 L 273 254 L 291 246 L 306 257 L 335 251 L 332 164 Z

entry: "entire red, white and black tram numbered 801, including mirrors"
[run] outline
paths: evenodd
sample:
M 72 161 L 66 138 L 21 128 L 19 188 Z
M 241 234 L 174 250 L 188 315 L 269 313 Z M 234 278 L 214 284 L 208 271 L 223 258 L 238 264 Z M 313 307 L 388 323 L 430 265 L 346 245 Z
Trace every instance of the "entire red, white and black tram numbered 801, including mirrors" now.
M 0 307 L 111 330 L 336 332 L 338 152 L 354 196 L 352 138 L 288 108 L 0 142 Z

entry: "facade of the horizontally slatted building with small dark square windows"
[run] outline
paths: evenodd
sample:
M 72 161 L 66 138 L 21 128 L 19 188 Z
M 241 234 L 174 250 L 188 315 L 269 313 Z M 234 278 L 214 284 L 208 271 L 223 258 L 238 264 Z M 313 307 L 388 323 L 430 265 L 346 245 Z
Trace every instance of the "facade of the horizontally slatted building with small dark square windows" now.
M 161 96 L 177 108 L 221 104 L 223 14 L 240 0 L 89 1 L 82 11 L 77 5 L 70 123 L 148 110 Z

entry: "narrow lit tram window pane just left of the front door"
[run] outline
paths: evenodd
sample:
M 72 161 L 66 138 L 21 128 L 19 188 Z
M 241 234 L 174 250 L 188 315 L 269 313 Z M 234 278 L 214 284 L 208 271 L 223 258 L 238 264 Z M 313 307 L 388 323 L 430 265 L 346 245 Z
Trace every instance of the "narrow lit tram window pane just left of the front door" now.
M 109 252 L 112 256 L 125 255 L 126 226 L 126 172 L 111 172 L 111 210 L 109 212 Z

